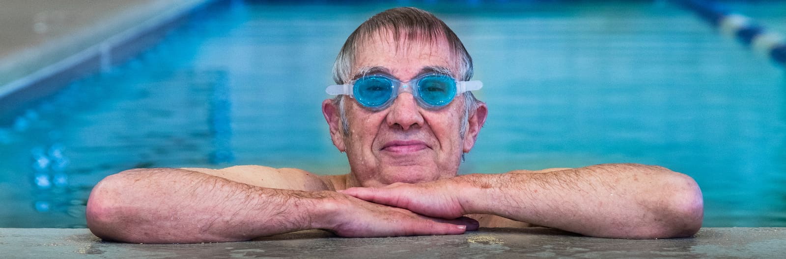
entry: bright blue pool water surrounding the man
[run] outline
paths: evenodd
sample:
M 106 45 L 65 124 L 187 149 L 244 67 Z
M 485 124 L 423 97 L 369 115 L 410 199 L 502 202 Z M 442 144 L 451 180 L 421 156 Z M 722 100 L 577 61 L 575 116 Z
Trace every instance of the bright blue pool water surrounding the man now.
M 771 8 L 731 6 L 786 26 Z M 0 227 L 84 226 L 92 186 L 133 167 L 346 173 L 320 103 L 343 41 L 390 7 L 219 8 L 69 83 L 0 128 Z M 704 226 L 786 226 L 784 70 L 693 13 L 668 2 L 420 7 L 456 31 L 485 85 L 490 115 L 461 173 L 659 164 L 699 182 Z

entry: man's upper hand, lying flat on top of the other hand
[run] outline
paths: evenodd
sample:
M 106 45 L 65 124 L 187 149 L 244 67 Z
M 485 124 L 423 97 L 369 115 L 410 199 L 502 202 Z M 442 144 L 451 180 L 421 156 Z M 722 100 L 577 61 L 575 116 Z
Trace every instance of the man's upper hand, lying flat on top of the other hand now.
M 419 184 L 394 183 L 381 188 L 354 187 L 339 192 L 429 217 L 454 219 L 468 214 L 459 196 L 466 191 L 451 178 Z

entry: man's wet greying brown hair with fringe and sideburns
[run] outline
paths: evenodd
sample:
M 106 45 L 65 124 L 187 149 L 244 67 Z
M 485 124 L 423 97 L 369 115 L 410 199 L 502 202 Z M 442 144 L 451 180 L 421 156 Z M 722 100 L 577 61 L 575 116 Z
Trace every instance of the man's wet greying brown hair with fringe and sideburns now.
M 450 27 L 447 27 L 442 20 L 439 20 L 432 13 L 413 7 L 400 7 L 377 13 L 360 24 L 349 35 L 339 55 L 336 57 L 336 63 L 333 63 L 333 81 L 336 81 L 338 85 L 351 81 L 353 76 L 353 71 L 351 70 L 355 53 L 358 52 L 362 44 L 373 41 L 374 37 L 379 37 L 380 34 L 384 33 L 392 34 L 399 48 L 406 48 L 411 42 L 434 44 L 440 40 L 445 40 L 450 47 L 450 51 L 453 52 L 454 60 L 457 62 L 455 67 L 458 68 L 458 71 L 456 71 L 458 74 L 453 76 L 460 81 L 472 79 L 472 73 L 474 72 L 472 69 L 472 57 L 469 56 L 467 49 L 464 48 L 464 44 L 450 30 Z M 468 116 L 470 113 L 475 112 L 480 102 L 475 98 L 475 95 L 472 95 L 472 92 L 465 92 L 463 96 L 465 99 L 465 110 L 461 118 L 460 134 L 462 139 L 467 131 Z M 343 135 L 347 137 L 350 135 L 350 131 L 343 100 L 344 96 L 338 95 L 333 99 L 333 104 L 339 107 Z

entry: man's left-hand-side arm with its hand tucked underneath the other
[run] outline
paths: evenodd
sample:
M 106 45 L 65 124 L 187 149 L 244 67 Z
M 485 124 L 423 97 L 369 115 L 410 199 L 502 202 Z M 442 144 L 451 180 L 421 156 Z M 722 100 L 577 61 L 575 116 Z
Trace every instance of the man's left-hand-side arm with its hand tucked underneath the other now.
M 242 170 L 249 168 L 256 174 Z M 110 175 L 90 193 L 87 225 L 102 239 L 130 243 L 237 241 L 314 228 L 340 236 L 445 235 L 476 228 L 466 218 L 428 218 L 333 192 L 304 171 L 288 171 L 287 178 L 270 167 L 226 169 Z

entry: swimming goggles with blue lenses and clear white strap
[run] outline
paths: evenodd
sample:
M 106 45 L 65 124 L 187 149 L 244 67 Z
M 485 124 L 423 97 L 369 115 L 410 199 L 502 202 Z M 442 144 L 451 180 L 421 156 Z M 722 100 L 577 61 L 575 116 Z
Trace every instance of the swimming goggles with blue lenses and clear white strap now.
M 384 110 L 391 106 L 401 92 L 409 92 L 417 104 L 436 110 L 467 91 L 483 88 L 480 81 L 456 81 L 445 74 L 429 73 L 402 82 L 384 74 L 369 74 L 344 85 L 330 85 L 329 95 L 349 95 L 370 110 Z

